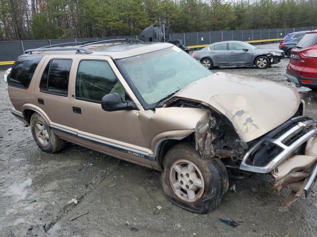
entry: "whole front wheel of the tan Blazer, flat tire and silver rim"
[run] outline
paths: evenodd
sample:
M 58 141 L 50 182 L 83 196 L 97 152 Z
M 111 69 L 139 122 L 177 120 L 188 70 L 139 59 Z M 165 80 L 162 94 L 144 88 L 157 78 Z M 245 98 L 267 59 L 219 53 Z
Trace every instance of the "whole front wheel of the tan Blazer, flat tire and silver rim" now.
M 218 158 L 201 158 L 191 143 L 178 144 L 166 153 L 161 184 L 171 202 L 200 214 L 216 209 L 229 188 L 224 164 Z

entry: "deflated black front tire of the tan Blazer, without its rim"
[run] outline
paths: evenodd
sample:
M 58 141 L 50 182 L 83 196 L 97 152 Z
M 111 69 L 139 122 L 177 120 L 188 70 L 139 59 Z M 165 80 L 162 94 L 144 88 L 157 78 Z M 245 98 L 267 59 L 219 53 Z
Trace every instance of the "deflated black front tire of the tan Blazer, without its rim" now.
M 172 188 L 170 170 L 177 160 L 188 160 L 194 163 L 202 173 L 205 184 L 204 193 L 194 202 L 181 199 Z M 164 157 L 161 185 L 164 195 L 177 206 L 205 214 L 221 204 L 221 199 L 229 188 L 229 179 L 224 164 L 218 158 L 202 159 L 192 143 L 180 143 L 172 147 Z

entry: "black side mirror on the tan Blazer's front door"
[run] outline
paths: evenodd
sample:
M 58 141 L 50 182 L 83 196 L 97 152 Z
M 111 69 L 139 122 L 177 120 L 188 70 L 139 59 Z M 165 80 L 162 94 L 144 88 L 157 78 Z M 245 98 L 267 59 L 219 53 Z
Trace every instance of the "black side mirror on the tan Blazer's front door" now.
M 123 101 L 118 93 L 110 93 L 103 97 L 101 102 L 103 110 L 112 112 L 120 110 L 139 110 L 131 101 Z

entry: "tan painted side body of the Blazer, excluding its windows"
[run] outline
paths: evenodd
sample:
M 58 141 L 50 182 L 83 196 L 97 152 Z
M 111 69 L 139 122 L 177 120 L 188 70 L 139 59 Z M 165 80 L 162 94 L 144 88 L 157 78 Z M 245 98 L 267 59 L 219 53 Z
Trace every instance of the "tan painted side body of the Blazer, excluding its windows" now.
M 55 58 L 72 59 L 67 96 L 39 90 L 45 67 Z M 107 61 L 127 94 L 138 105 L 139 111 L 106 112 L 100 103 L 76 99 L 77 68 L 84 59 Z M 155 157 L 161 142 L 166 139 L 180 140 L 190 135 L 195 131 L 197 122 L 208 113 L 207 110 L 193 108 L 158 108 L 155 111 L 145 111 L 112 59 L 107 56 L 47 55 L 37 67 L 34 77 L 27 91 L 9 87 L 13 90 L 12 103 L 16 111 L 23 113 L 29 109 L 39 113 L 56 135 L 65 140 L 155 169 L 160 169 Z M 38 98 L 44 100 L 44 105 L 38 103 Z M 81 114 L 73 113 L 72 107 L 81 108 Z

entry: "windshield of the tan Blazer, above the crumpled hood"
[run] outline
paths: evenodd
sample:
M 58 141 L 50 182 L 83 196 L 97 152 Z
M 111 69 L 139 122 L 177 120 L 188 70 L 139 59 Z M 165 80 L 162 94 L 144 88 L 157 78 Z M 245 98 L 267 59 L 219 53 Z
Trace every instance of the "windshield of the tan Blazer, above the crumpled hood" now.
M 133 82 L 131 87 L 148 105 L 156 105 L 189 83 L 212 74 L 176 46 L 120 59 L 118 63 Z

